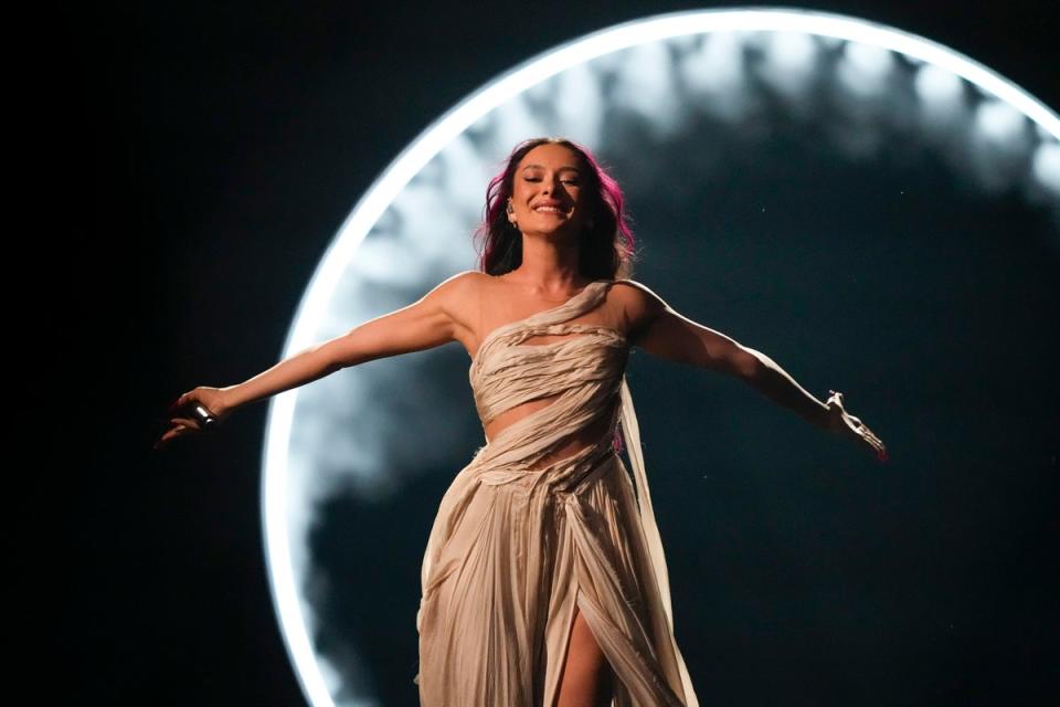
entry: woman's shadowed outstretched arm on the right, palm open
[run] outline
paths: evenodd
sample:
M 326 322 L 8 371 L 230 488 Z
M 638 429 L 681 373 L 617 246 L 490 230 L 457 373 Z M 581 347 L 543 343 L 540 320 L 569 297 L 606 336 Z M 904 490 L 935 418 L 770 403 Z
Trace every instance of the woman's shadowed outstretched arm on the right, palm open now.
M 623 295 L 628 340 L 633 346 L 666 360 L 738 378 L 817 428 L 867 446 L 881 462 L 887 460 L 882 441 L 844 409 L 842 393 L 829 391 L 831 395 L 822 402 L 762 351 L 692 321 L 640 283 L 619 282 L 632 285 L 635 291 Z

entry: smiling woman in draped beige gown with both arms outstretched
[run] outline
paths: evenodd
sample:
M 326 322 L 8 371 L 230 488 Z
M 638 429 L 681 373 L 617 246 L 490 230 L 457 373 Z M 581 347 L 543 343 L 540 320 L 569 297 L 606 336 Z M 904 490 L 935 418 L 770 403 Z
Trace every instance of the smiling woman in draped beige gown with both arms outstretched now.
M 486 444 L 424 553 L 421 703 L 696 706 L 625 382 L 630 347 L 740 378 L 882 461 L 880 440 L 767 356 L 632 279 L 622 193 L 585 148 L 520 144 L 489 184 L 483 272 L 229 388 L 195 388 L 160 444 L 347 366 L 456 340 Z M 617 450 L 626 442 L 633 481 Z

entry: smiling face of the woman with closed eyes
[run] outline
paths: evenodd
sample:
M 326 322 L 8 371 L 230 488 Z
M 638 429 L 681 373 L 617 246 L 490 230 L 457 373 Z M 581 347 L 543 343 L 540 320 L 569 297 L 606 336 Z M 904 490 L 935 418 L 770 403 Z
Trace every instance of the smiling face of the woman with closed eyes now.
M 577 152 L 550 143 L 537 146 L 516 168 L 508 220 L 522 233 L 576 238 L 587 215 L 584 181 Z

